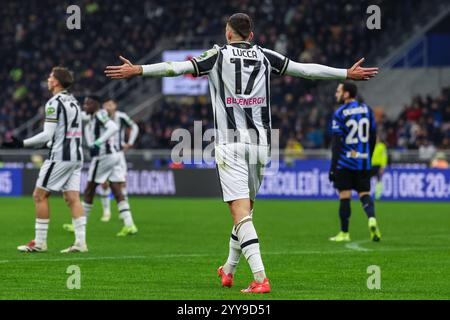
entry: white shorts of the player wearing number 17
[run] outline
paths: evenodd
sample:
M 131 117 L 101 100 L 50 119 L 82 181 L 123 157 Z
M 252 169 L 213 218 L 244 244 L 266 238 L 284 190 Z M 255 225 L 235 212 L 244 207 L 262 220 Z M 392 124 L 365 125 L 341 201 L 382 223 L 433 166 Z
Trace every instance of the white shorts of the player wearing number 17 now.
M 223 201 L 255 201 L 270 161 L 270 148 L 245 143 L 216 146 L 216 163 Z

